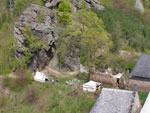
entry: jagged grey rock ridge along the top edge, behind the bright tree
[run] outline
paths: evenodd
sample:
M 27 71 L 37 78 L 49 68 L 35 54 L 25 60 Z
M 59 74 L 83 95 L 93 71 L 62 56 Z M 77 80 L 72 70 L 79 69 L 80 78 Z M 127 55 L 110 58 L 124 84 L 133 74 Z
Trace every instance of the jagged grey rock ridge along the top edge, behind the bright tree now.
M 58 7 L 61 0 L 43 0 L 46 3 L 47 7 Z M 67 0 L 73 6 L 73 12 L 76 10 L 81 9 L 82 7 L 82 0 Z M 97 0 L 85 0 L 87 8 L 91 9 L 94 7 L 98 10 L 104 10 L 104 6 L 102 6 Z

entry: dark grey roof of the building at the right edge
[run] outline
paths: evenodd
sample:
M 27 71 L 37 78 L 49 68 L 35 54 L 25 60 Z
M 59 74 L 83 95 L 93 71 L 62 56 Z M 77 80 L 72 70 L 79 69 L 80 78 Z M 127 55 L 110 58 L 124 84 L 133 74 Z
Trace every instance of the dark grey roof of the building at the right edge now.
M 141 55 L 133 71 L 131 77 L 150 78 L 150 55 Z

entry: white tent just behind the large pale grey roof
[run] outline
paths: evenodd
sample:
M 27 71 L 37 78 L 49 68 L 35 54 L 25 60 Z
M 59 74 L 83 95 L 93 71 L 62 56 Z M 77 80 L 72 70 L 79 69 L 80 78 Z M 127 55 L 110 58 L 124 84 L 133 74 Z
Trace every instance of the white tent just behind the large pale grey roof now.
M 89 81 L 85 84 L 83 84 L 83 91 L 89 91 L 89 92 L 95 92 L 97 88 L 100 88 L 101 83 Z

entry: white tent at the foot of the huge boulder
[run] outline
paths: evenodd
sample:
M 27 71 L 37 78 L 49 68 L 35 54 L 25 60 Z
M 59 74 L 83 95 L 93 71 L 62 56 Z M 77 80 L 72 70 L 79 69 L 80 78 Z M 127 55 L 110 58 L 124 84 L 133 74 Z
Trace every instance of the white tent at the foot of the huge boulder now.
M 44 73 L 37 71 L 34 76 L 34 80 L 38 82 L 45 82 L 46 80 L 48 80 L 48 78 L 46 77 Z

